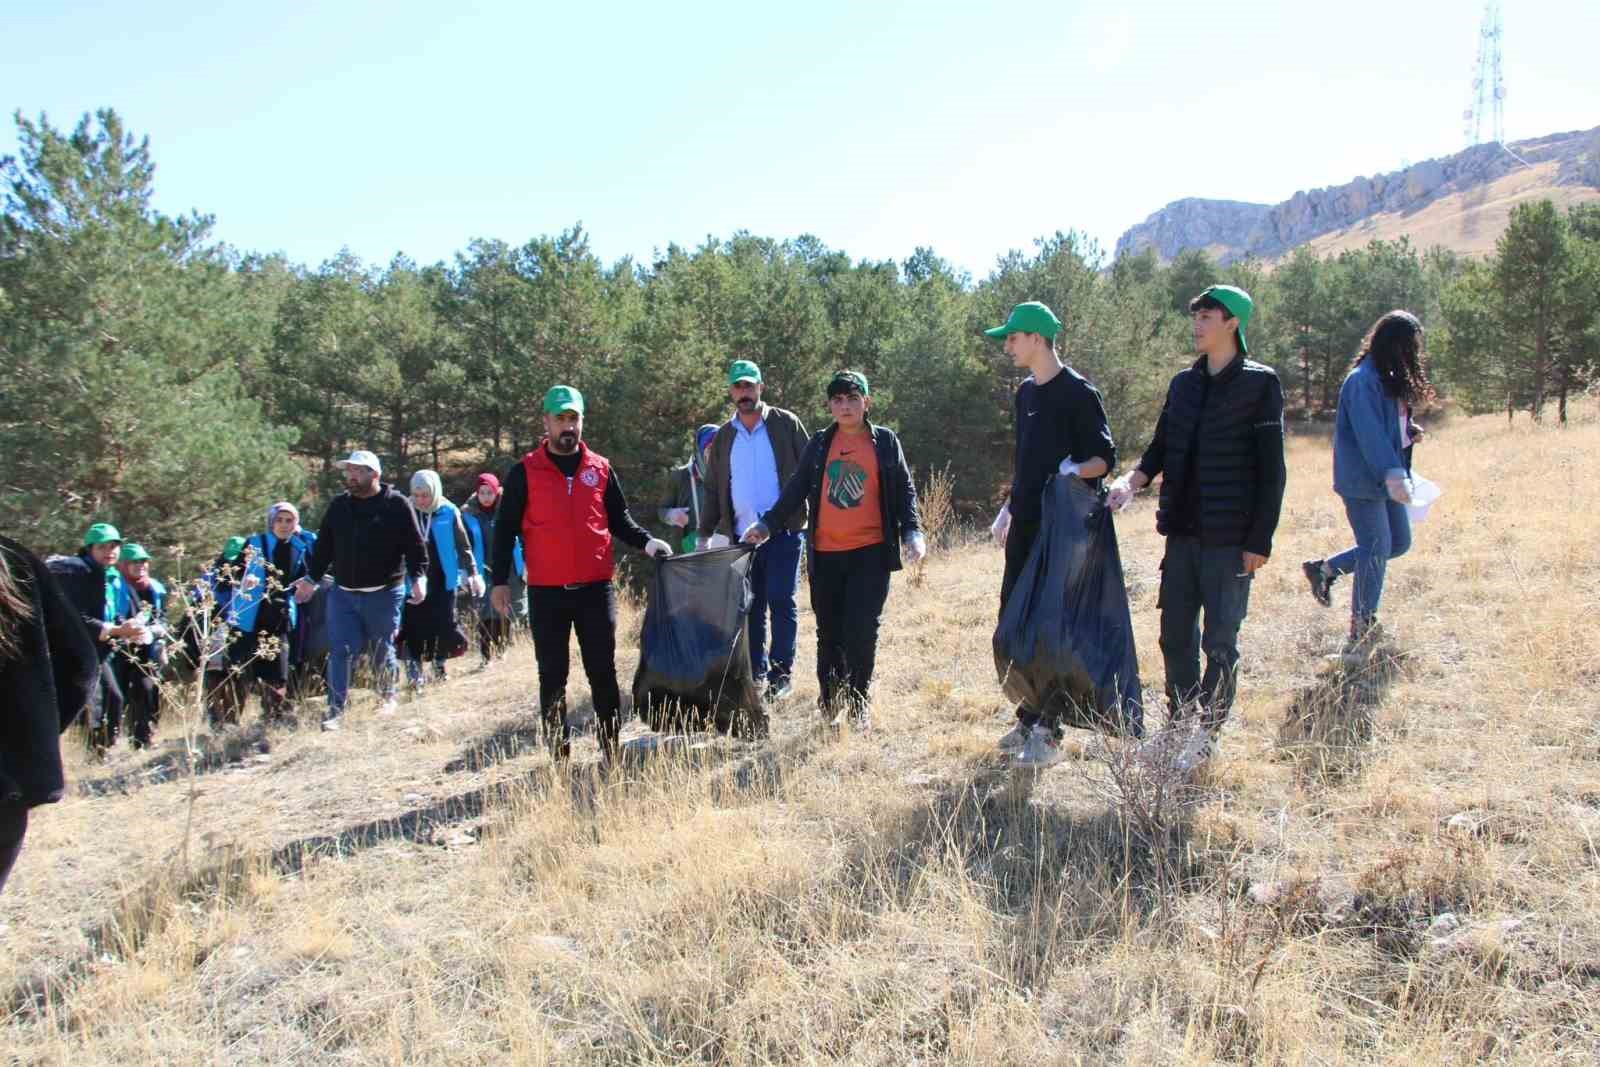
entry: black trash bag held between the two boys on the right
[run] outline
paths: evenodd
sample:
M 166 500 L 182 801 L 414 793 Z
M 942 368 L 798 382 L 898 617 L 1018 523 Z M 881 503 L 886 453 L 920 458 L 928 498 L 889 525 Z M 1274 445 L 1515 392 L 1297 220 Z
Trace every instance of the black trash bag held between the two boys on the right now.
M 1144 736 L 1128 589 L 1104 493 L 1045 485 L 1043 522 L 995 629 L 1005 694 L 1062 726 Z

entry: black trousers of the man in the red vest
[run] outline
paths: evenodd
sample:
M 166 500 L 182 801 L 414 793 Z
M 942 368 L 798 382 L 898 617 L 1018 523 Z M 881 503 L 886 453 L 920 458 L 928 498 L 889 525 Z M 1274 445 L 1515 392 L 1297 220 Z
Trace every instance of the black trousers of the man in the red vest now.
M 539 664 L 539 715 L 557 757 L 571 750 L 566 729 L 566 673 L 571 635 L 589 677 L 602 752 L 614 752 L 622 731 L 622 694 L 616 685 L 616 590 L 611 582 L 530 585 L 528 621 Z

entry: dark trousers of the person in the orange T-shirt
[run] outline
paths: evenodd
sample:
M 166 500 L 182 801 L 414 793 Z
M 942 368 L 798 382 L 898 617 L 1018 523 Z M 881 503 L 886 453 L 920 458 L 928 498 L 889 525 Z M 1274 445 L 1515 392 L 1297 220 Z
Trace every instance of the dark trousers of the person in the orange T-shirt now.
M 811 569 L 816 614 L 816 680 L 822 707 L 843 696 L 864 705 L 878 654 L 878 621 L 890 595 L 890 565 L 882 544 L 850 552 L 818 552 Z

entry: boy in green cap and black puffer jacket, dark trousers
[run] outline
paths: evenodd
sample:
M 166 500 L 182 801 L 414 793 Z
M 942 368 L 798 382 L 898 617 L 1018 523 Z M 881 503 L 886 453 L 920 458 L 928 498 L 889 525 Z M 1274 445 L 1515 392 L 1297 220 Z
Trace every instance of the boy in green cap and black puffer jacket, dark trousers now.
M 1200 358 L 1173 378 L 1150 446 L 1107 498 L 1120 509 L 1162 475 L 1155 530 L 1166 536 L 1158 598 L 1166 704 L 1174 721 L 1198 710 L 1202 728 L 1171 753 L 1181 771 L 1211 758 L 1227 721 L 1250 582 L 1272 555 L 1283 509 L 1283 386 L 1270 366 L 1245 358 L 1253 309 L 1250 294 L 1230 285 L 1189 302 Z

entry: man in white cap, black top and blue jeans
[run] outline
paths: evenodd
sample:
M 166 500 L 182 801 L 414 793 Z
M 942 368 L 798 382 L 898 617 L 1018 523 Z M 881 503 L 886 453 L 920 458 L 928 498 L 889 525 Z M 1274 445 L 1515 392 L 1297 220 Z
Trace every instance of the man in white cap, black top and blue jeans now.
M 427 597 L 427 542 L 416 523 L 411 498 L 378 478 L 382 466 L 368 451 L 341 459 L 347 491 L 333 498 L 306 577 L 294 582 L 294 600 L 317 595 L 317 582 L 331 568 L 328 590 L 328 713 L 323 729 L 339 729 L 350 691 L 350 659 L 371 654 L 382 694 L 379 715 L 395 710 L 395 630 L 405 606 L 406 581 L 411 603 Z

